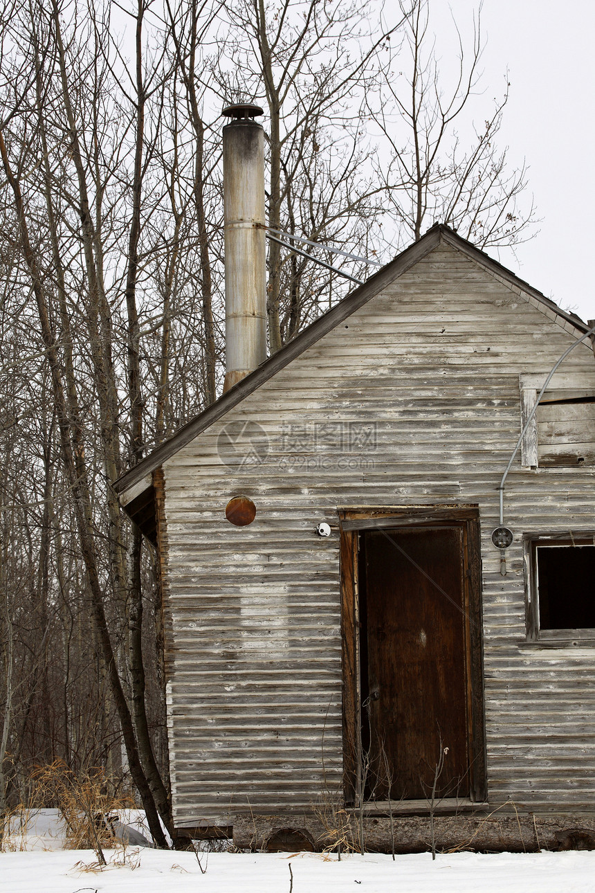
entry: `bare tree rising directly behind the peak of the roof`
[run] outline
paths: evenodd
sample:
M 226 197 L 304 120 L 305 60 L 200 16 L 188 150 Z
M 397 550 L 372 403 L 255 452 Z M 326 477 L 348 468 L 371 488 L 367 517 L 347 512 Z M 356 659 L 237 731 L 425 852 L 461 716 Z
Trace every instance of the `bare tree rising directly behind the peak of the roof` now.
M 400 246 L 421 238 L 427 221 L 447 223 L 482 247 L 522 241 L 533 221 L 533 204 L 519 207 L 525 167 L 510 170 L 506 149 L 496 144 L 509 85 L 500 102 L 482 113 L 481 127 L 468 121 L 482 54 L 480 13 L 468 51 L 456 29 L 458 68 L 449 89 L 434 52 L 428 0 L 416 0 L 413 8 L 400 0 L 400 8 L 404 41 L 383 66 L 383 102 L 368 104 L 390 155 L 376 176 L 396 216 Z M 466 121 L 468 141 L 458 133 Z

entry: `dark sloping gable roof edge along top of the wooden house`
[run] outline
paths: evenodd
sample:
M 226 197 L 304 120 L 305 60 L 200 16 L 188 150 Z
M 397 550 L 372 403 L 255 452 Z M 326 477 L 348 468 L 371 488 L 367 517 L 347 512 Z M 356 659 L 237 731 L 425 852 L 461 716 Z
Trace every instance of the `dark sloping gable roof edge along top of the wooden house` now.
M 182 447 L 186 447 L 186 444 L 198 434 L 201 434 L 213 422 L 218 421 L 222 415 L 241 403 L 244 397 L 252 394 L 252 391 L 256 390 L 256 388 L 260 388 L 261 384 L 283 369 L 287 363 L 291 363 L 308 347 L 315 344 L 319 338 L 335 329 L 335 326 L 347 319 L 351 313 L 359 310 L 359 307 L 365 305 L 372 297 L 381 292 L 383 288 L 395 279 L 398 279 L 410 267 L 421 261 L 441 244 L 455 248 L 508 286 L 518 289 L 528 297 L 533 297 L 538 304 L 542 304 L 550 311 L 556 313 L 560 317 L 562 324 L 564 324 L 563 321 L 569 322 L 582 334 L 588 331 L 589 327 L 574 313 L 566 313 L 561 310 L 558 305 L 550 301 L 550 298 L 542 295 L 540 291 L 530 286 L 527 282 L 518 279 L 513 272 L 497 261 L 492 260 L 491 257 L 473 246 L 467 239 L 461 238 L 454 230 L 450 230 L 450 227 L 438 223 L 431 230 L 428 230 L 426 235 L 422 236 L 418 242 L 406 248 L 405 251 L 401 252 L 401 255 L 397 255 L 393 261 L 390 261 L 381 270 L 370 276 L 363 285 L 355 288 L 348 296 L 344 297 L 343 301 L 340 301 L 339 304 L 336 304 L 330 310 L 327 310 L 326 313 L 319 316 L 317 320 L 310 323 L 292 341 L 278 350 L 277 354 L 270 356 L 264 363 L 260 363 L 258 369 L 239 381 L 234 388 L 230 388 L 215 403 L 208 406 L 194 419 L 188 421 L 186 425 L 162 443 L 161 446 L 156 447 L 145 459 L 123 474 L 119 480 L 116 480 L 114 489 L 120 496 L 120 502 L 128 505 L 133 499 L 136 500 L 146 488 L 152 486 L 150 475 L 161 466 L 161 463 L 169 459 L 170 456 L 175 455 Z

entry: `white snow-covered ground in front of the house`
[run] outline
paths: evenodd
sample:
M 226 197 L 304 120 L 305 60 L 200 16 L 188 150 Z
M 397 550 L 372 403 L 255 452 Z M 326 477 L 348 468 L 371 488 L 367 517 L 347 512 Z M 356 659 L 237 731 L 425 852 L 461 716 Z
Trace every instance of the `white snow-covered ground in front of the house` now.
M 106 856 L 113 857 L 113 851 Z M 121 854 L 115 853 L 121 861 Z M 595 890 L 595 852 L 517 855 L 202 855 L 130 847 L 128 864 L 88 872 L 89 850 L 0 854 L 6 893 L 572 893 Z M 134 867 L 136 866 L 136 867 Z

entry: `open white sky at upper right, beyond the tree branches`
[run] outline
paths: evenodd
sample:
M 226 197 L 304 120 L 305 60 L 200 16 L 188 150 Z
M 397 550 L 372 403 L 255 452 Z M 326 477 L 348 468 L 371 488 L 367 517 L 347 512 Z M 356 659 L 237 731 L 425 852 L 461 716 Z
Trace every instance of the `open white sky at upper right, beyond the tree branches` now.
M 473 0 L 431 0 L 434 29 L 450 29 L 449 7 L 466 32 Z M 498 260 L 583 320 L 595 319 L 591 255 L 595 242 L 592 0 L 484 0 L 483 88 L 500 96 L 508 69 L 510 98 L 498 146 L 528 165 L 541 218 L 532 241 Z M 440 34 L 437 34 L 440 45 Z

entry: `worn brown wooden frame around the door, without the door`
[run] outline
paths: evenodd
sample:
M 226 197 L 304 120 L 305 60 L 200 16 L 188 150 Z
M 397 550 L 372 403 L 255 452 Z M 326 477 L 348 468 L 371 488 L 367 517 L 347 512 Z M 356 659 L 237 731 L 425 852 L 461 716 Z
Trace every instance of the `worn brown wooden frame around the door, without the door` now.
M 359 665 L 359 532 L 398 527 L 459 526 L 463 531 L 467 677 L 467 736 L 471 800 L 487 797 L 483 709 L 482 561 L 479 506 L 403 505 L 338 510 L 341 538 L 341 638 L 343 656 L 343 794 L 346 805 L 360 805 L 361 692 Z

